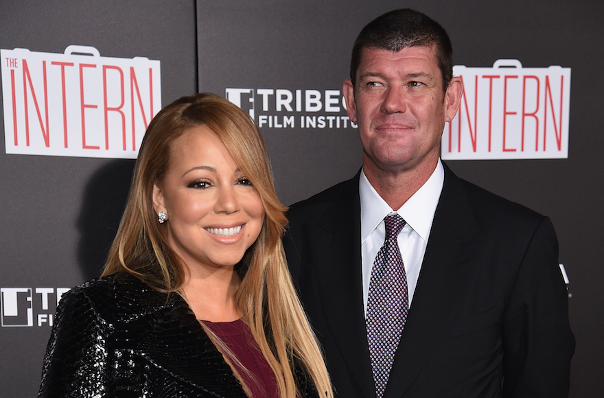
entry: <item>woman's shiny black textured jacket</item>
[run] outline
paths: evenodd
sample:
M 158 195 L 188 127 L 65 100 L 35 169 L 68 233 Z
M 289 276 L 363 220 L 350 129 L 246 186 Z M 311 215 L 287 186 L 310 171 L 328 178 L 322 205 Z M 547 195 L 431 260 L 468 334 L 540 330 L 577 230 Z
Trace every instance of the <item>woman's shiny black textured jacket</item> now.
M 302 397 L 318 397 L 302 371 Z M 178 294 L 128 274 L 62 296 L 38 398 L 246 397 Z

